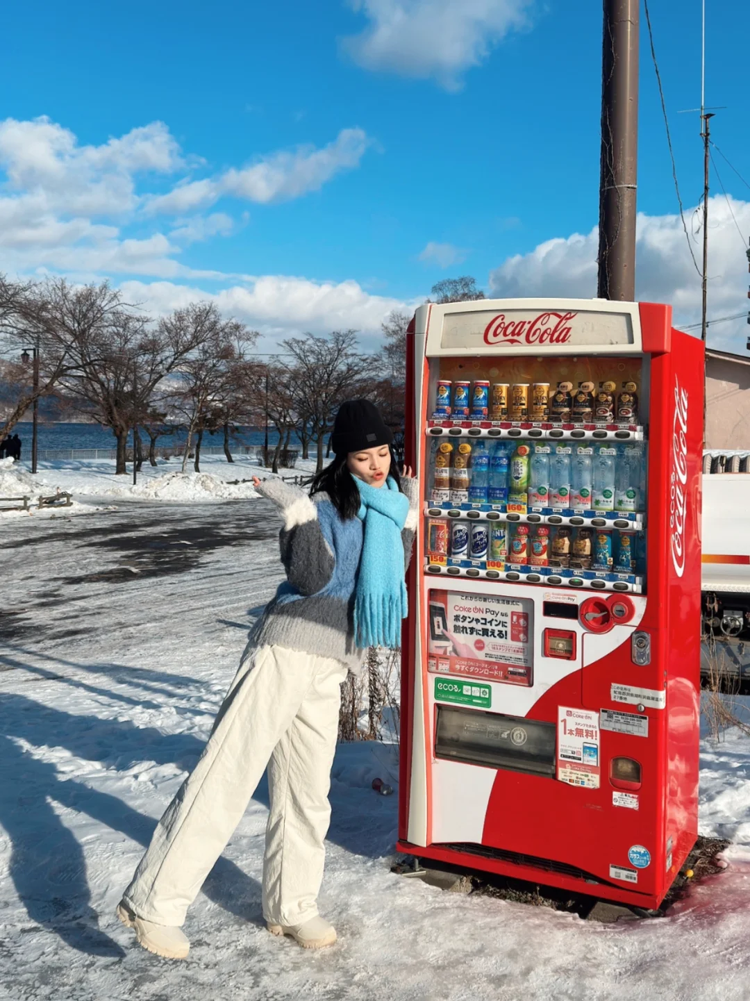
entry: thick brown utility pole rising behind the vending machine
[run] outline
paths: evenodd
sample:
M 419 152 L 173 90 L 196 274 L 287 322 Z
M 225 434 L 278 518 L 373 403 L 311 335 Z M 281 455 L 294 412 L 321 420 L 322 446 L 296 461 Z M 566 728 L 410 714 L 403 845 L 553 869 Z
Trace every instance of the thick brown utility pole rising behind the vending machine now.
M 603 299 L 635 299 L 639 0 L 604 0 L 599 280 Z

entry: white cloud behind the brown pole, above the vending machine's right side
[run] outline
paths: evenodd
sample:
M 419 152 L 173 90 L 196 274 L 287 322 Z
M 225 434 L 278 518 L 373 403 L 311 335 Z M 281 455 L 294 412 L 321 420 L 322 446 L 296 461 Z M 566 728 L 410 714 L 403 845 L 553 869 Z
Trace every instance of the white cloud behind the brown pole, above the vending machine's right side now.
M 730 206 L 731 205 L 731 211 Z M 748 306 L 747 236 L 750 202 L 723 195 L 709 199 L 708 317 L 733 316 Z M 744 237 L 737 231 L 737 225 Z M 693 211 L 686 212 L 691 232 Z M 698 217 L 696 216 L 696 219 Z M 701 241 L 692 239 L 700 266 Z M 526 254 L 509 257 L 490 274 L 491 294 L 513 296 L 582 296 L 597 292 L 598 230 L 574 233 L 540 243 Z M 678 325 L 701 317 L 701 278 L 690 257 L 679 215 L 639 213 L 636 238 L 636 298 L 668 302 Z M 709 327 L 710 345 L 725 350 L 745 348 L 743 318 Z

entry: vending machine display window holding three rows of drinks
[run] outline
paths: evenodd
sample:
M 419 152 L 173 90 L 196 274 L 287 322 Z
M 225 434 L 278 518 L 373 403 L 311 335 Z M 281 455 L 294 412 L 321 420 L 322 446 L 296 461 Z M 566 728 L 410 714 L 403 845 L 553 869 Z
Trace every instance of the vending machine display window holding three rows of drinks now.
M 428 573 L 646 593 L 641 357 L 430 363 Z

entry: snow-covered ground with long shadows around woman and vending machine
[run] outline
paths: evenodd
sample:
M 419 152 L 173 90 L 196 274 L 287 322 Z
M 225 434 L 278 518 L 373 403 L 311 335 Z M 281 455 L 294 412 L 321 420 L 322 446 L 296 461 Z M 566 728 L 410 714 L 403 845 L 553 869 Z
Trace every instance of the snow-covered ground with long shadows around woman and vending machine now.
M 227 478 L 250 474 L 237 463 Z M 80 497 L 110 473 L 42 475 Z M 666 919 L 601 925 L 393 875 L 397 797 L 370 782 L 397 785 L 396 755 L 359 744 L 333 768 L 320 906 L 334 949 L 310 954 L 262 926 L 264 786 L 189 912 L 188 960 L 134 946 L 114 907 L 280 567 L 261 497 L 116 504 L 0 518 L 0 997 L 750 998 L 750 743 L 731 734 L 703 743 L 701 830 L 734 840 L 732 866 Z

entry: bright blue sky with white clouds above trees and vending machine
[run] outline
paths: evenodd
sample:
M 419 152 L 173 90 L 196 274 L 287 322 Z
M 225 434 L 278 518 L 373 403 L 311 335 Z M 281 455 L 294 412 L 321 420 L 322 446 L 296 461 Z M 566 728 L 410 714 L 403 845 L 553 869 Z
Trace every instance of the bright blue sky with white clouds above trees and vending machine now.
M 699 122 L 678 111 L 700 102 L 700 2 L 651 6 L 694 231 Z M 750 182 L 750 4 L 709 8 L 713 134 Z M 639 295 L 690 322 L 699 279 L 641 19 Z M 458 273 L 498 295 L 594 294 L 601 20 L 594 0 L 14 5 L 0 268 L 110 276 L 156 309 L 216 295 L 268 345 L 372 331 Z M 746 305 L 750 188 L 715 156 L 723 316 Z M 717 325 L 717 346 L 744 327 Z

